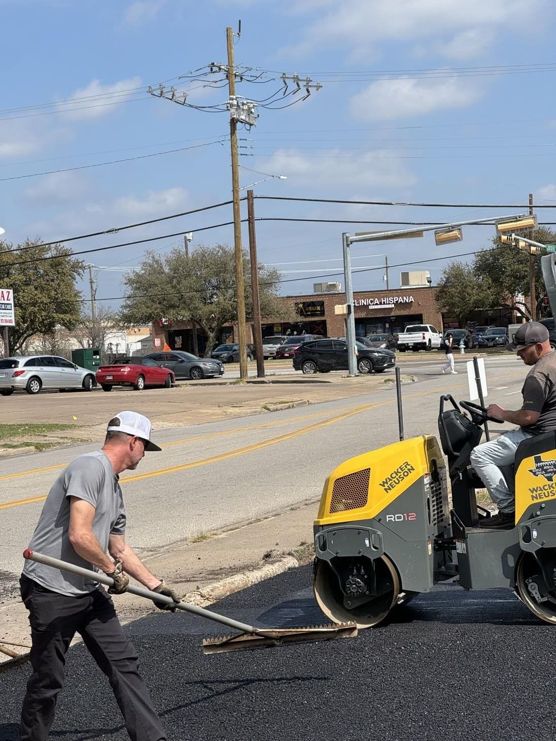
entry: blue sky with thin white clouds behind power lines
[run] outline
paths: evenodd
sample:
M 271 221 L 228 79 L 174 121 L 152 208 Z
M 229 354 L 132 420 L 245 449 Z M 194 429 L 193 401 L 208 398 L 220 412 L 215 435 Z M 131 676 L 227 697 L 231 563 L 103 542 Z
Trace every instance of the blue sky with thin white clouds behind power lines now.
M 240 146 L 249 147 L 240 150 L 248 155 L 241 165 L 287 176 L 255 186 L 258 195 L 523 204 L 532 192 L 535 203 L 556 207 L 550 0 L 0 0 L 0 8 L 0 224 L 14 244 L 25 236 L 50 241 L 231 198 L 228 114 L 156 99 L 146 87 L 169 81 L 188 91 L 188 103 L 222 104 L 227 87 L 207 87 L 222 76 L 202 73 L 211 62 L 225 62 L 225 28 L 235 29 L 239 18 L 236 64 L 261 75 L 257 84 L 238 84 L 239 95 L 272 96 L 282 87 L 282 72 L 322 84 L 305 101 L 270 110 L 301 96 L 282 99 L 280 93 L 270 108 L 259 107 L 251 132 L 240 131 Z M 198 68 L 196 79 L 178 79 Z M 69 99 L 79 100 L 59 104 Z M 182 147 L 198 148 L 8 179 Z M 242 169 L 241 185 L 264 177 Z M 348 219 L 449 222 L 517 211 L 271 200 L 257 201 L 256 209 L 269 219 L 257 223 L 259 259 L 288 271 L 285 279 L 300 279 L 282 285 L 287 294 L 311 293 L 319 281 L 311 276 L 341 270 L 343 231 L 383 228 Z M 540 222 L 556 222 L 552 209 L 538 213 Z M 182 230 L 193 232 L 193 250 L 232 244 L 231 227 L 196 232 L 231 218 L 231 207 L 222 207 L 72 247 Z M 397 288 L 400 271 L 411 270 L 412 261 L 443 256 L 448 262 L 451 254 L 478 250 L 489 244 L 492 227 L 468 227 L 464 234 L 463 242 L 442 248 L 432 236 L 362 243 L 354 246 L 354 267 L 380 265 L 377 253 L 386 252 L 391 265 L 403 264 L 391 269 Z M 246 245 L 245 226 L 243 239 Z M 85 259 L 133 267 L 149 246 L 165 251 L 181 243 L 174 237 Z M 428 268 L 436 282 L 446 262 L 416 268 Z M 98 273 L 99 299 L 122 296 L 123 274 Z M 337 279 L 343 285 L 342 276 Z M 383 270 L 354 275 L 356 289 L 383 285 Z M 87 296 L 85 283 L 82 288 Z

